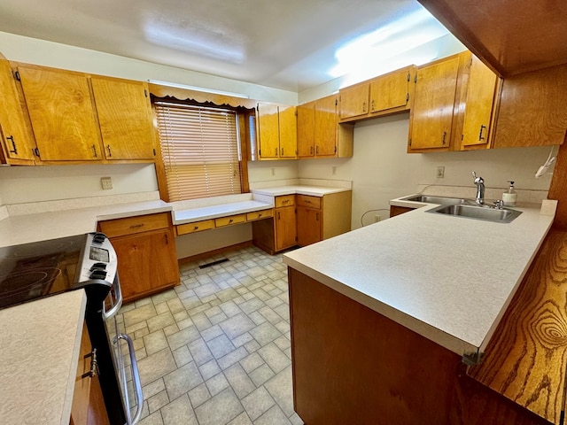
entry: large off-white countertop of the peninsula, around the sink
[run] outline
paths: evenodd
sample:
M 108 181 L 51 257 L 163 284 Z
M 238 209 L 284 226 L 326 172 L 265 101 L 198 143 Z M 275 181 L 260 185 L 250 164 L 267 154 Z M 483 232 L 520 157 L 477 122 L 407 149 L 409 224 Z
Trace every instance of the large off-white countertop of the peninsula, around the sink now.
M 524 213 L 504 224 L 421 206 L 283 261 L 453 352 L 482 352 L 553 216 L 518 207 Z

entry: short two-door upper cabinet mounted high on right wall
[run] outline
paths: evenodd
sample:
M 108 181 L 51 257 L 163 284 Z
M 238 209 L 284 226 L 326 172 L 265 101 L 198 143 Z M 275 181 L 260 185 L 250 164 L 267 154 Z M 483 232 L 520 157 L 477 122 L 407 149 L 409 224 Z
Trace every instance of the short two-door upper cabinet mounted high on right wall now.
M 340 89 L 341 122 L 367 120 L 408 111 L 413 101 L 416 66 L 385 73 L 369 81 Z

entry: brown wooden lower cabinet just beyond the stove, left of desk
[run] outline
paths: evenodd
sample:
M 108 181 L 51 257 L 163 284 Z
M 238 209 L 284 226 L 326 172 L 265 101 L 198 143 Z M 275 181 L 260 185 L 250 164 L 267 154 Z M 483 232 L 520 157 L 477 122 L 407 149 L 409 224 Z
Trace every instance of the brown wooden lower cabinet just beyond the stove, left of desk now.
M 110 238 L 116 251 L 124 302 L 179 283 L 170 213 L 100 221 L 98 228 Z

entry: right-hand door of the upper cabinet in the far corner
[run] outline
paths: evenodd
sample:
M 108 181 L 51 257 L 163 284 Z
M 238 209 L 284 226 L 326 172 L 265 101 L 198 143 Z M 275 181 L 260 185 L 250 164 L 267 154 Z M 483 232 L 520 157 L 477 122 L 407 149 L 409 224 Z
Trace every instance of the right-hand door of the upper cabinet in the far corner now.
M 315 156 L 334 157 L 337 154 L 336 96 L 315 100 Z

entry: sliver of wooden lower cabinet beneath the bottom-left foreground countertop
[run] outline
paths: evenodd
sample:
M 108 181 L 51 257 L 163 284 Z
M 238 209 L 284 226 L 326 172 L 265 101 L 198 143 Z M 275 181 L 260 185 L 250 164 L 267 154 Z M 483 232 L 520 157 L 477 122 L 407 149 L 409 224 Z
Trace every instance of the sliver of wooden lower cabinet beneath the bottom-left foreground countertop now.
M 71 425 L 105 425 L 110 423 L 105 399 L 98 380 L 97 367 L 93 367 L 93 347 L 86 324 L 82 326 L 79 362 L 74 382 Z

